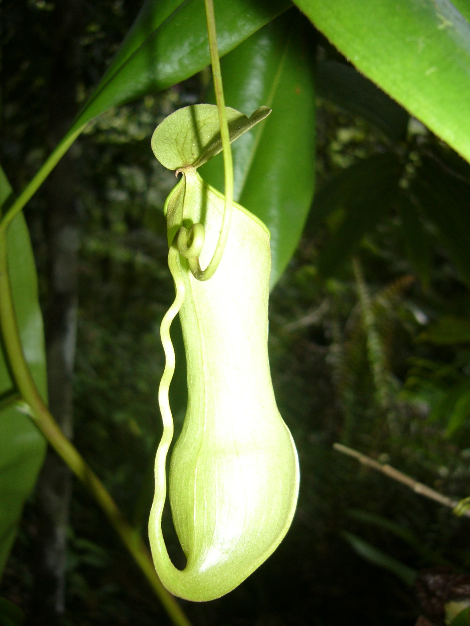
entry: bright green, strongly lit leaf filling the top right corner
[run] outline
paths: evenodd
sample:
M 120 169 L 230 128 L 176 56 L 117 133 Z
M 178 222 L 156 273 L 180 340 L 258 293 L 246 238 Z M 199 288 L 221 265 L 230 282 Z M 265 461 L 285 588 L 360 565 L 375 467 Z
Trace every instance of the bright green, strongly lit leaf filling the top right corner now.
M 355 67 L 470 160 L 470 24 L 449 0 L 295 0 Z M 468 3 L 458 5 L 468 18 Z

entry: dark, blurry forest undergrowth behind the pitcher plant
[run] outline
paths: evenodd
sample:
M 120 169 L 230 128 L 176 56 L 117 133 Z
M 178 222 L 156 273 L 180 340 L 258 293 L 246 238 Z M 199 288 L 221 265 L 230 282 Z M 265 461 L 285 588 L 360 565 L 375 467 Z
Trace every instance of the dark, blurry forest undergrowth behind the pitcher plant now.
M 16 190 L 70 126 L 138 5 L 1 1 L 0 162 Z M 349 67 L 308 28 L 317 61 Z M 174 297 L 162 213 L 174 175 L 155 160 L 150 136 L 172 111 L 204 102 L 209 83 L 207 68 L 97 118 L 25 212 L 51 410 L 144 534 L 161 433 L 159 324 Z M 467 252 L 449 246 L 426 210 L 439 200 L 426 180 L 439 180 L 447 202 L 468 211 L 470 167 L 404 111 L 387 132 L 370 108 L 339 100 L 318 89 L 318 195 L 270 302 L 274 390 L 300 454 L 298 510 L 278 550 L 234 592 L 182 602 L 195 626 L 411 626 L 420 613 L 416 572 L 470 568 L 469 520 L 332 450 L 339 441 L 457 500 L 470 493 Z M 399 164 L 393 194 L 370 189 L 387 159 Z M 410 191 L 419 176 L 427 196 Z M 343 220 L 358 213 L 364 188 L 365 217 L 348 238 Z M 184 368 L 172 395 L 180 423 Z M 165 523 L 172 536 L 169 516 Z M 176 554 L 175 538 L 169 543 Z M 51 452 L 0 595 L 31 625 L 169 623 Z

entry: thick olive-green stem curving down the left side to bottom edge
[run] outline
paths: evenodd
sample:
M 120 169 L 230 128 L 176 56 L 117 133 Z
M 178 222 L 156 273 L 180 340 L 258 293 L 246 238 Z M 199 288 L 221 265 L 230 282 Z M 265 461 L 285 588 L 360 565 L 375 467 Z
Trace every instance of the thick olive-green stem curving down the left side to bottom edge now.
M 102 508 L 108 520 L 117 531 L 135 562 L 144 573 L 155 593 L 164 605 L 164 608 L 175 626 L 191 626 L 188 618 L 160 582 L 155 572 L 154 564 L 145 546 L 140 533 L 132 528 L 125 520 L 115 501 L 106 490 L 98 476 L 93 472 L 78 450 L 62 433 L 49 409 L 41 398 L 34 383 L 28 364 L 23 354 L 18 324 L 14 313 L 11 284 L 8 274 L 8 254 L 6 245 L 6 230 L 8 223 L 0 227 L 0 327 L 4 339 L 4 346 L 13 371 L 14 381 L 24 400 L 19 408 L 33 419 L 41 433 L 55 448 L 65 463 L 75 473 L 79 480 Z

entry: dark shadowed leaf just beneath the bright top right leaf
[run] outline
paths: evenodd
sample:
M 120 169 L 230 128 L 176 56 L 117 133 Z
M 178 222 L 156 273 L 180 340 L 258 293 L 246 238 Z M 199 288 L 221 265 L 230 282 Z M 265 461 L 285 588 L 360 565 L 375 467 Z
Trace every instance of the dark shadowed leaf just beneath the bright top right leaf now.
M 316 85 L 321 98 L 371 121 L 392 140 L 405 138 L 408 113 L 351 65 L 318 61 Z

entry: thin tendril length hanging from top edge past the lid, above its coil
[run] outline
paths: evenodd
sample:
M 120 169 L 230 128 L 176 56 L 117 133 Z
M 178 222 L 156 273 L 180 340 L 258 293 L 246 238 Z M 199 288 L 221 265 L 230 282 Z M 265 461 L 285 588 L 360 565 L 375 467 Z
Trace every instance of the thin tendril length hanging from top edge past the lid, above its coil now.
M 207 36 L 209 38 L 209 51 L 211 53 L 212 78 L 214 79 L 214 91 L 216 92 L 217 110 L 219 111 L 219 123 L 221 126 L 222 155 L 224 158 L 224 192 L 225 206 L 222 227 L 216 250 L 209 265 L 203 272 L 202 280 L 207 280 L 214 275 L 224 254 L 225 244 L 229 235 L 230 222 L 232 219 L 233 205 L 233 162 L 232 150 L 230 147 L 229 125 L 225 111 L 224 88 L 222 86 L 221 62 L 217 49 L 216 18 L 214 15 L 213 0 L 204 0 L 206 7 Z

